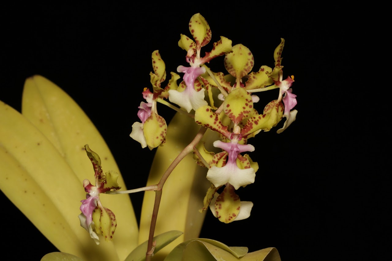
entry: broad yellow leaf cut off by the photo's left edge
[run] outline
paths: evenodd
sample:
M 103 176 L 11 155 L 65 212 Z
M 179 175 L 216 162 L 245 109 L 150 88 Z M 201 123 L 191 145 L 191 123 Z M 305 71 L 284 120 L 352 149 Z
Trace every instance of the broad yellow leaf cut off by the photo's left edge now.
M 5 103 L 0 103 L 0 148 L 0 188 L 45 237 L 60 251 L 85 259 L 118 260 L 113 244 L 98 248 L 80 227 L 82 180 L 42 132 Z M 83 158 L 91 173 L 84 150 Z

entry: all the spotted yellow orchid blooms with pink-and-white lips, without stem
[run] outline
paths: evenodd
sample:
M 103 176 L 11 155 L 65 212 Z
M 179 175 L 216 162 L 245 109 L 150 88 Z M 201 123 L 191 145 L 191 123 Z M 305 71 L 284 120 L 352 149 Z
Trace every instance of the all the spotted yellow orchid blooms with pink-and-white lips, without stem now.
M 207 179 L 211 182 L 200 212 L 210 208 L 212 214 L 224 223 L 246 219 L 250 216 L 253 203 L 240 201 L 236 190 L 254 183 L 258 163 L 248 154 L 241 153 L 255 150 L 253 145 L 248 144 L 249 138 L 255 137 L 261 130 L 269 131 L 285 117 L 283 127 L 277 130 L 281 133 L 295 120 L 297 114 L 293 110 L 297 104 L 296 95 L 291 89 L 294 76 L 283 80 L 281 53 L 285 40 L 281 38 L 274 51 L 273 68 L 263 65 L 257 72 L 251 72 L 254 57 L 250 50 L 242 44 L 232 46 L 232 41 L 223 36 L 213 44 L 211 51 L 201 57 L 201 47 L 211 40 L 211 29 L 201 14 L 192 16 L 189 30 L 194 40 L 181 34 L 178 42 L 186 51 L 185 60 L 188 63 L 188 66 L 177 67 L 183 79 L 179 85 L 180 75 L 171 72 L 171 79 L 163 87 L 162 83 L 166 80 L 165 63 L 158 50 L 152 52 L 152 91 L 143 89 L 145 101 L 138 107 L 140 122 L 133 123 L 130 136 L 142 148 L 149 147 L 152 150 L 158 146 L 170 146 L 164 144 L 167 124 L 158 114 L 158 103 L 194 118 L 194 122 L 205 130 L 208 128 L 218 132 L 220 140 L 214 141 L 213 146 L 221 149 L 221 152 L 208 151 L 202 142 L 194 146 L 192 151 L 196 163 L 208 168 Z M 207 67 L 206 63 L 218 56 L 225 56 L 224 65 L 228 75 L 212 72 Z M 277 99 L 270 101 L 259 113 L 255 108 L 259 98 L 254 93 L 272 89 L 279 89 Z M 115 175 L 102 173 L 98 155 L 88 147 L 86 151 L 94 165 L 96 185 L 91 185 L 87 179 L 83 181 L 88 194 L 80 208 L 81 225 L 96 241 L 96 234 L 103 234 L 105 239 L 111 240 L 116 228 L 115 217 L 113 212 L 102 207 L 99 193 L 118 190 L 120 187 Z

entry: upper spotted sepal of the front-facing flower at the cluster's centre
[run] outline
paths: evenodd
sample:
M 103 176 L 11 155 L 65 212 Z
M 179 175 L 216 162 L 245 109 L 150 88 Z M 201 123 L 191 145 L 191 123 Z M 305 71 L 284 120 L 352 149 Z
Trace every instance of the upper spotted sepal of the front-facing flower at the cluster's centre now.
M 253 111 L 252 97 L 245 89 L 236 88 L 223 101 L 223 108 L 225 114 L 237 125 Z

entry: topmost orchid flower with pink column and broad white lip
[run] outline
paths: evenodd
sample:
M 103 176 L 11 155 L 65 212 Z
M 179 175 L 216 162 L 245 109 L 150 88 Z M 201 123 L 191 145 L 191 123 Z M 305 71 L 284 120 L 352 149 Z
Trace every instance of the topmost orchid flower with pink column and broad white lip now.
M 186 60 L 190 67 L 178 66 L 177 71 L 183 72 L 183 82 L 186 87 L 181 86 L 177 90 L 169 90 L 169 101 L 183 107 L 187 112 L 192 109 L 196 111 L 198 108 L 207 105 L 204 100 L 204 89 L 195 86 L 195 80 L 203 73 L 205 68 L 200 67 L 206 62 L 210 62 L 213 58 L 232 51 L 231 40 L 221 36 L 221 40 L 214 43 L 211 52 L 206 53 L 204 57 L 200 57 L 201 47 L 208 44 L 211 40 L 211 29 L 200 13 L 192 16 L 189 21 L 189 31 L 191 32 L 195 42 L 187 36 L 181 34 L 178 45 L 187 51 Z

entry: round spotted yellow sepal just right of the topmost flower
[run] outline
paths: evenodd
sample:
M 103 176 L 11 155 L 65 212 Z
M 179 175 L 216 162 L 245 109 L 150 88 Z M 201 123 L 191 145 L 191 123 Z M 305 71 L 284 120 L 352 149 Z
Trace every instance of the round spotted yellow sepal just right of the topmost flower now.
M 253 65 L 253 54 L 248 47 L 242 44 L 234 45 L 232 53 L 226 54 L 226 70 L 237 79 L 247 75 L 252 70 Z

